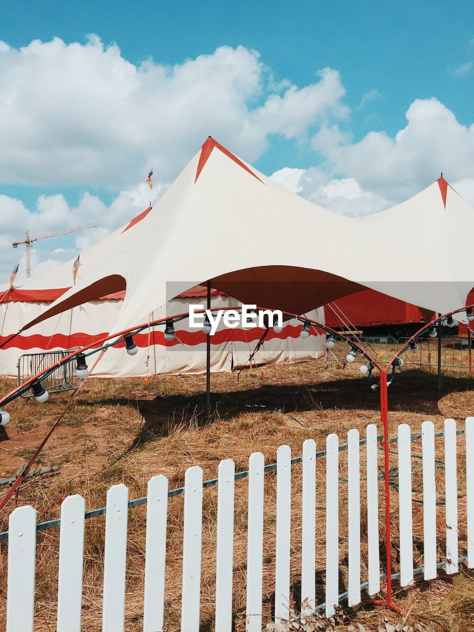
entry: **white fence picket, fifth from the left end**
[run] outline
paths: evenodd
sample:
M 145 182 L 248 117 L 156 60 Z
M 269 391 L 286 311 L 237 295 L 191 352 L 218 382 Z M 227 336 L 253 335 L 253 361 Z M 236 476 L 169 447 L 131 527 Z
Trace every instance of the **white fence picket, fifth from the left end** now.
M 183 535 L 183 590 L 181 632 L 198 632 L 201 593 L 202 469 L 185 474 L 185 525 Z

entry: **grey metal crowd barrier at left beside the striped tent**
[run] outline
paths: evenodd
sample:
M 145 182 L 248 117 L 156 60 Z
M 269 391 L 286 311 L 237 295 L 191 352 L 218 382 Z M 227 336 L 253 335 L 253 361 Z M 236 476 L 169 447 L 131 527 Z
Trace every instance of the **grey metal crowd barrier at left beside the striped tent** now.
M 61 351 L 42 351 L 41 353 L 25 353 L 18 358 L 18 386 L 30 379 L 33 375 L 37 375 L 40 371 L 51 366 L 52 364 L 63 360 L 70 353 L 79 351 L 79 347 L 72 349 L 62 349 Z M 80 380 L 76 377 L 75 363 L 66 362 L 61 367 L 54 370 L 42 385 L 51 394 L 62 391 L 74 391 L 79 385 Z M 27 391 L 21 397 L 32 397 L 31 391 Z

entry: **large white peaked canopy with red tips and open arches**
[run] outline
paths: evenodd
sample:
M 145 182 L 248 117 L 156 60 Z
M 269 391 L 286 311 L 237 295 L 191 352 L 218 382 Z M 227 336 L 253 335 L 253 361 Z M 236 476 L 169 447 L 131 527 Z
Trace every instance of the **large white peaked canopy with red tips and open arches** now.
M 474 286 L 474 260 L 451 229 L 470 226 L 472 210 L 443 183 L 354 219 L 290 193 L 208 138 L 154 209 L 83 253 L 76 285 L 23 329 L 126 290 L 119 332 L 207 279 L 242 302 L 292 313 L 361 287 L 449 312 Z

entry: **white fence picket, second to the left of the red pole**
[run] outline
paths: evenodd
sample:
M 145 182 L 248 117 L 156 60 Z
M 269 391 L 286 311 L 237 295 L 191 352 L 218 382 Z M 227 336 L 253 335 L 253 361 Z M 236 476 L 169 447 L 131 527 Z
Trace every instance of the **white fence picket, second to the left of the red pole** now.
M 360 454 L 359 431 L 348 437 L 349 586 L 348 605 L 360 604 Z

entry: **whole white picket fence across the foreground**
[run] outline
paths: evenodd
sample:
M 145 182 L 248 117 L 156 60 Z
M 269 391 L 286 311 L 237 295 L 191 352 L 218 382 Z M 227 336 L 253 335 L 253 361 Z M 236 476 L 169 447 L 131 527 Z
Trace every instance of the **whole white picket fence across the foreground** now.
M 456 435 L 465 434 L 466 493 L 467 493 L 467 555 L 458 552 L 458 473 Z M 398 428 L 399 474 L 399 578 L 401 586 L 413 583 L 415 573 L 425 579 L 434 578 L 437 569 L 445 566 L 446 573 L 456 573 L 459 562 L 474 567 L 474 417 L 466 427 L 456 431 L 456 423 L 444 423 L 444 462 L 446 492 L 446 557 L 437 562 L 435 432 L 432 422 L 422 425 L 423 471 L 423 567 L 413 569 L 412 528 L 412 463 L 410 427 Z M 291 459 L 288 446 L 277 451 L 276 463 L 276 542 L 275 542 L 275 619 L 289 617 L 290 540 L 291 540 L 291 471 L 295 463 L 302 464 L 302 532 L 301 532 L 301 604 L 310 609 L 321 605 L 315 600 L 315 530 L 316 530 L 316 461 L 326 458 L 326 563 L 325 612 L 331 616 L 334 605 L 346 597 L 349 605 L 362 599 L 362 588 L 369 595 L 380 590 L 379 559 L 379 469 L 377 457 L 377 427 L 367 427 L 367 438 L 360 441 L 358 430 L 350 430 L 347 446 L 339 446 L 336 434 L 327 437 L 326 451 L 316 452 L 313 439 L 303 444 L 301 457 Z M 397 440 L 395 440 L 397 441 Z M 367 577 L 361 569 L 361 506 L 360 506 L 360 447 L 367 451 Z M 396 443 L 392 443 L 396 446 Z M 339 452 L 348 451 L 348 586 L 339 595 Z M 231 632 L 233 624 L 233 541 L 234 541 L 234 477 L 248 475 L 248 547 L 246 562 L 246 629 L 260 632 L 267 621 L 262 617 L 262 573 L 264 568 L 264 456 L 250 456 L 248 473 L 235 475 L 230 459 L 221 461 L 217 478 L 217 566 L 216 566 L 216 630 Z M 209 486 L 209 485 L 207 485 Z M 164 629 L 164 596 L 166 567 L 166 530 L 168 481 L 164 476 L 150 479 L 147 493 L 147 532 L 145 554 L 145 592 L 143 595 L 143 630 Z M 173 494 L 173 492 L 170 492 Z M 175 495 L 175 494 L 173 494 Z M 181 594 L 181 630 L 198 632 L 200 624 L 200 586 L 202 562 L 202 502 L 203 477 L 199 467 L 186 471 L 184 487 L 183 583 Z M 128 489 L 114 485 L 107 492 L 106 535 L 104 551 L 104 593 L 102 629 L 119 632 L 125 621 L 125 582 Z M 383 512 L 382 512 L 383 513 Z M 382 516 L 383 517 L 383 516 Z M 55 526 L 55 525 L 52 525 Z M 66 498 L 61 505 L 59 532 L 58 624 L 59 632 L 79 632 L 81 629 L 83 545 L 85 501 L 79 495 Z M 7 632 L 32 632 L 35 599 L 35 548 L 37 515 L 30 506 L 15 509 L 9 518 L 8 532 L 8 594 Z M 362 583 L 363 581 L 363 583 Z M 304 616 L 304 612 L 302 615 Z

